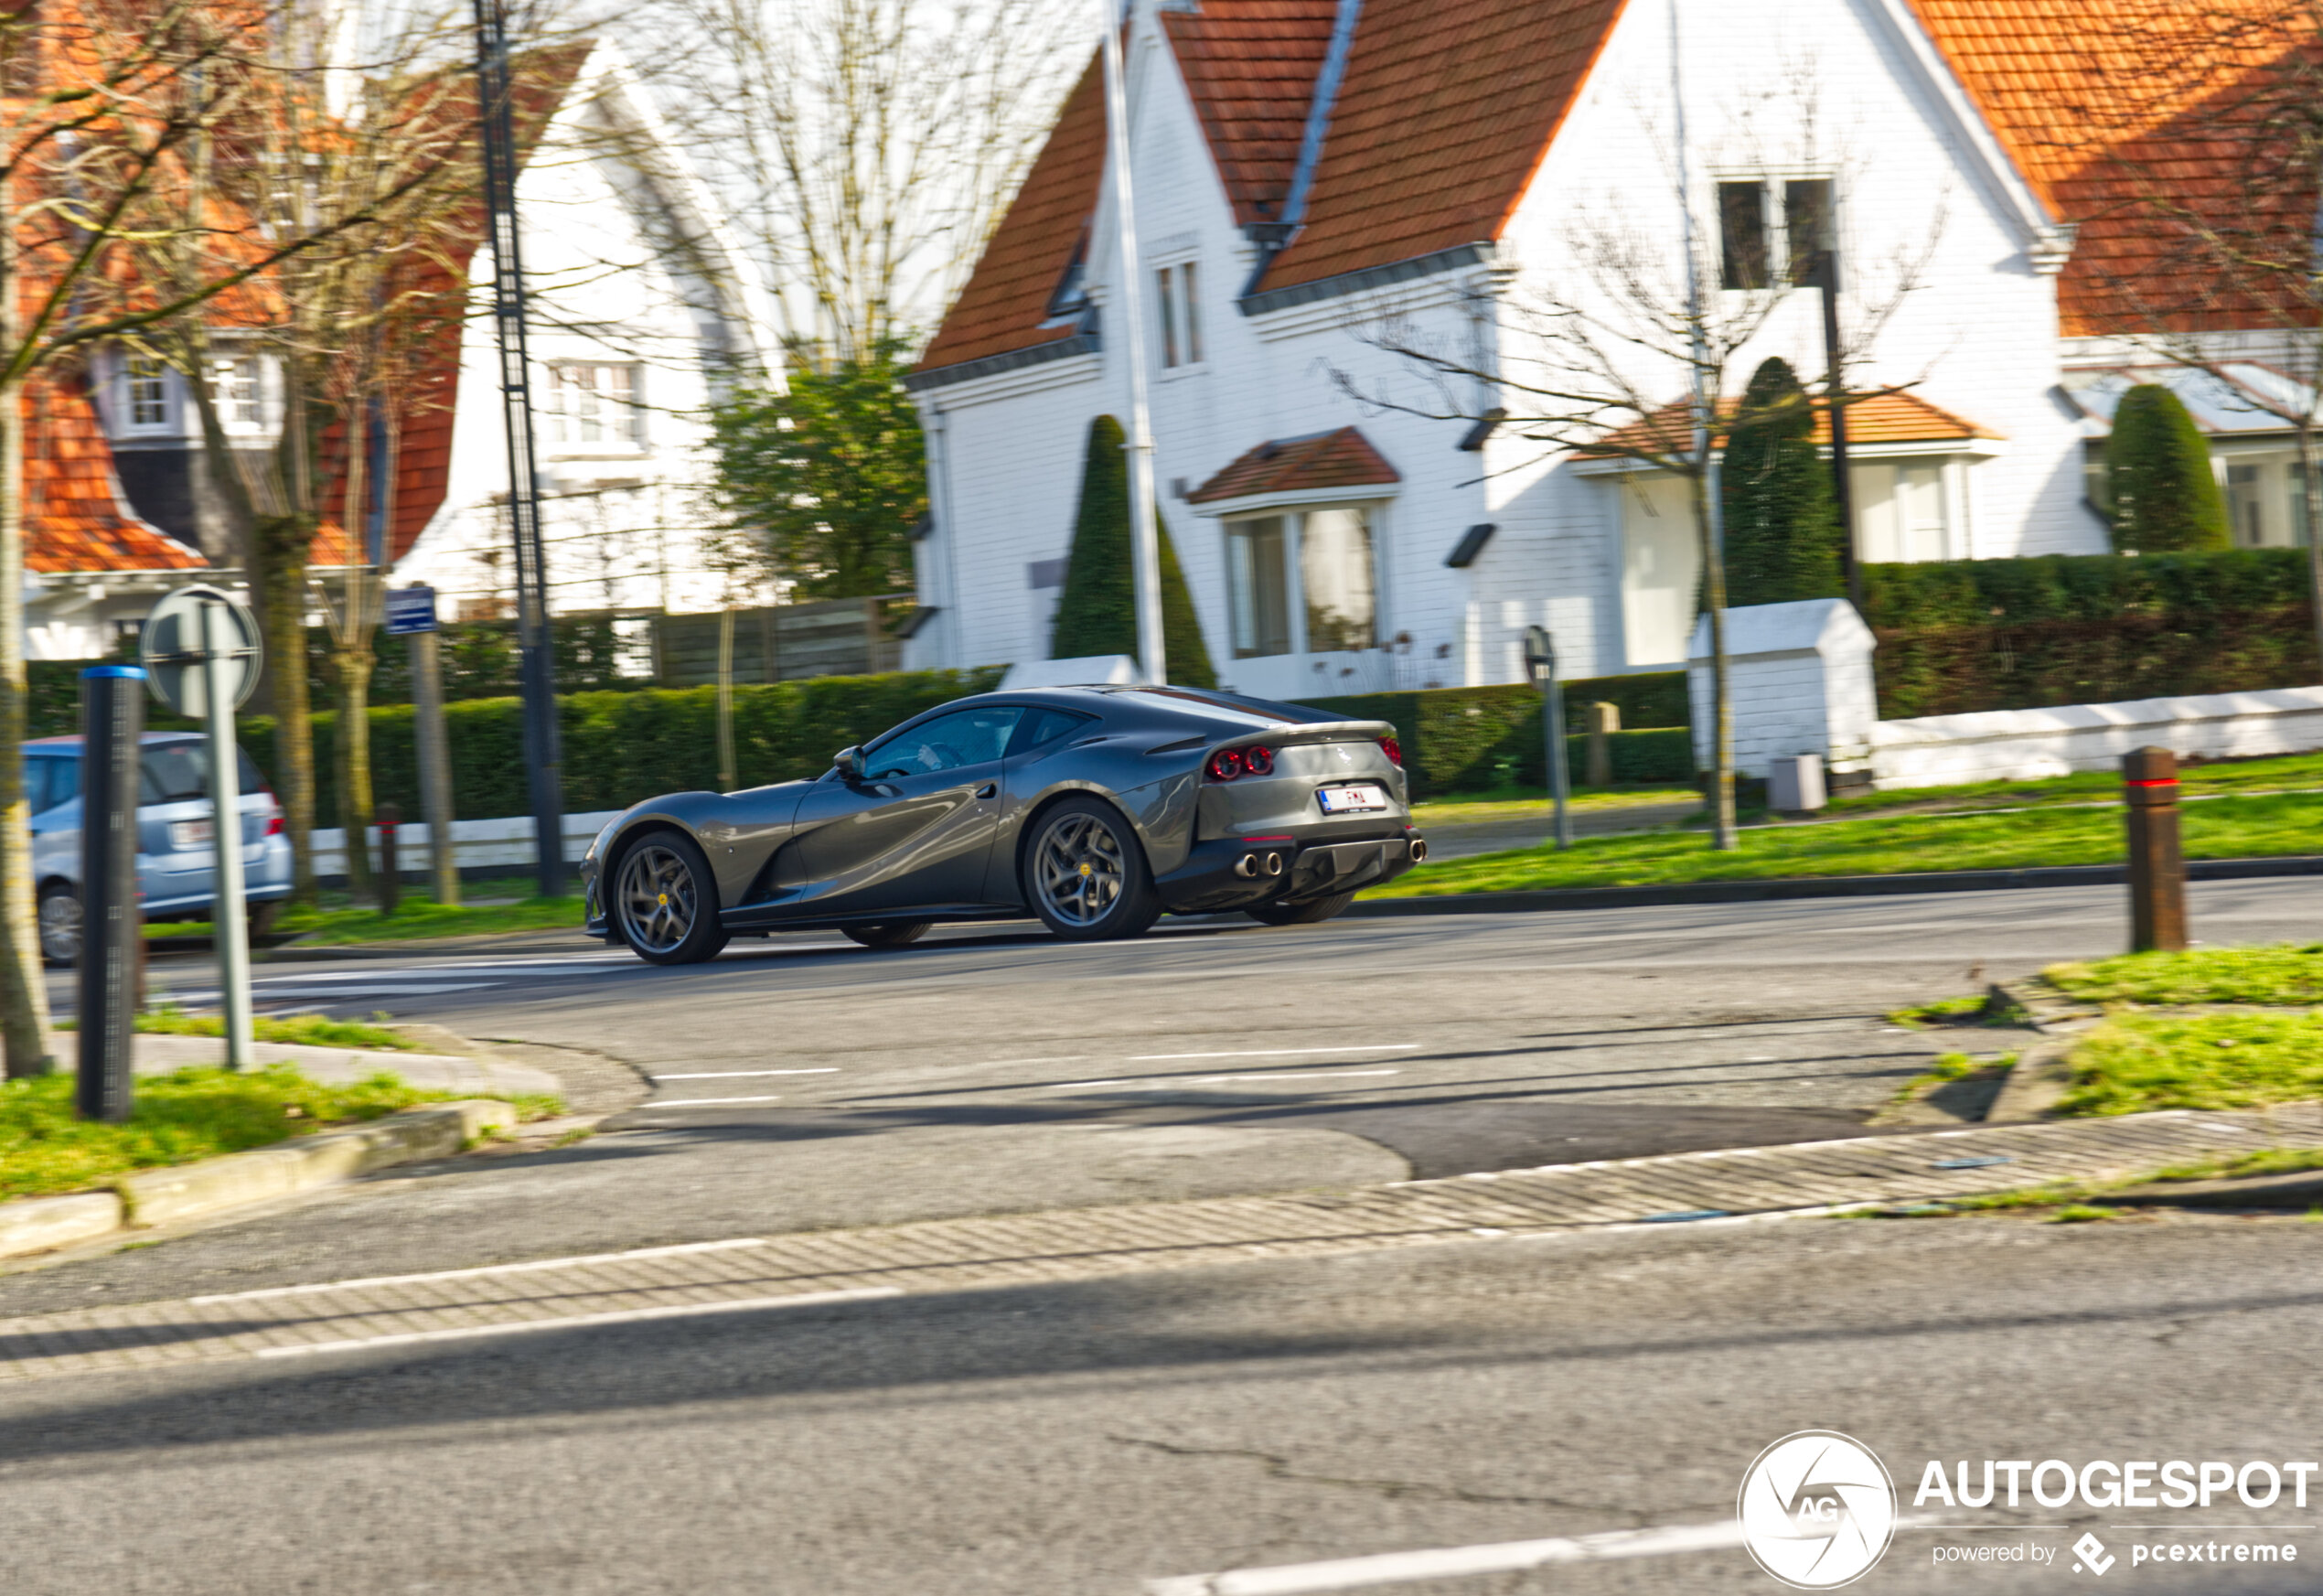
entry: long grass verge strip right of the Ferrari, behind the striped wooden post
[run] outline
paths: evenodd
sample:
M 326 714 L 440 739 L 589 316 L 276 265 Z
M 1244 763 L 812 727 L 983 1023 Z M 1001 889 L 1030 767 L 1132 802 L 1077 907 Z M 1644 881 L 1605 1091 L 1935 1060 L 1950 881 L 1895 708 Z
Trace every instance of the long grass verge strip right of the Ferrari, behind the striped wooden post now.
M 2186 855 L 2195 860 L 2314 853 L 2323 795 L 2235 797 L 2186 808 Z M 1903 876 L 1951 869 L 2119 864 L 2119 808 L 2054 808 L 2012 815 L 1889 815 L 1745 832 L 1714 853 L 1698 832 L 1598 836 L 1422 864 L 1375 897 L 1519 892 L 1538 887 L 1633 887 L 1775 876 Z

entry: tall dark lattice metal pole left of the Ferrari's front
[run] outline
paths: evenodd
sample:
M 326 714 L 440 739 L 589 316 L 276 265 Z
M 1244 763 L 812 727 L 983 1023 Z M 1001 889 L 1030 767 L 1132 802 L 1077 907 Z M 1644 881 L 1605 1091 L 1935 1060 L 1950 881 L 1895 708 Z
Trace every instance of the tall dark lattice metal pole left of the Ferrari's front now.
M 541 897 L 562 897 L 564 783 L 548 634 L 548 551 L 541 544 L 541 486 L 532 460 L 532 362 L 525 348 L 525 263 L 516 230 L 516 123 L 509 100 L 506 19 L 499 0 L 476 0 L 476 107 L 483 123 L 483 202 L 492 228 L 499 409 L 509 434 L 509 527 L 516 539 L 516 641 L 523 655 L 532 860 Z

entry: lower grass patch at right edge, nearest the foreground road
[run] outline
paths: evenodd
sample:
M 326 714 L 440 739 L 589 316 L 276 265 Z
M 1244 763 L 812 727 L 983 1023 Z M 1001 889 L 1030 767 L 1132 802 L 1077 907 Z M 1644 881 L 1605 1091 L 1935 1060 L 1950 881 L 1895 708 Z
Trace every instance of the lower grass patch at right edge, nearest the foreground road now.
M 2323 1097 L 2323 1013 L 2114 1015 L 2072 1052 L 2058 1115 L 2265 1108 Z

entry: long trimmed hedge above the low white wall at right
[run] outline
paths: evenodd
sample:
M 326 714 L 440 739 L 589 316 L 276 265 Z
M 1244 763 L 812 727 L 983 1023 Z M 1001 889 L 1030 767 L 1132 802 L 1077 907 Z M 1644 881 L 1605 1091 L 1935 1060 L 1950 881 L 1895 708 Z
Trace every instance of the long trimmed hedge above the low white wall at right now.
M 2304 548 L 1865 565 L 1879 716 L 2323 681 Z

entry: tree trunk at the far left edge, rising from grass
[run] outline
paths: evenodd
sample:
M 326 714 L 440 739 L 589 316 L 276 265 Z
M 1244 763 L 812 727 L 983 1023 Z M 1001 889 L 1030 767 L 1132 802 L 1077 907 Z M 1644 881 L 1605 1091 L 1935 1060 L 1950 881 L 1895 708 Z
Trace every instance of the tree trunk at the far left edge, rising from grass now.
M 0 295 L 14 283 L 0 274 Z M 49 983 L 33 906 L 33 811 L 23 795 L 23 386 L 0 386 L 0 1041 L 7 1078 L 56 1069 Z

